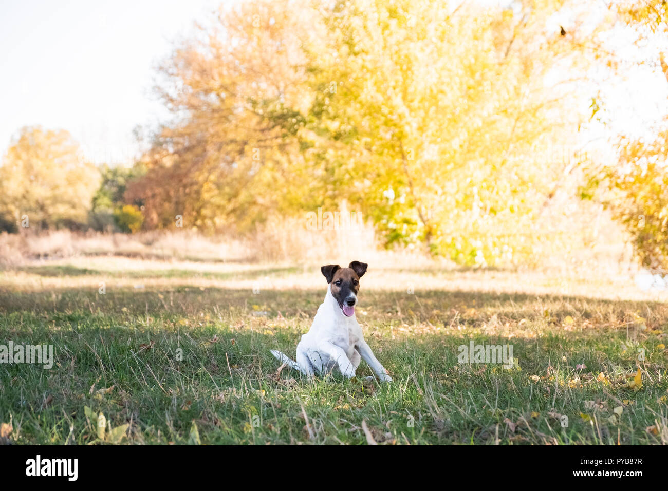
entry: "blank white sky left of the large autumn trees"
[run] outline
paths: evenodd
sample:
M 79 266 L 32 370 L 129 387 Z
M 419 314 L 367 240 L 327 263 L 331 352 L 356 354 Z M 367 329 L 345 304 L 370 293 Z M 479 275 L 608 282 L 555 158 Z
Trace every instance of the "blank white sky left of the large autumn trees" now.
M 124 162 L 165 112 L 154 66 L 220 0 L 0 0 L 0 152 L 19 128 L 63 128 L 96 162 Z

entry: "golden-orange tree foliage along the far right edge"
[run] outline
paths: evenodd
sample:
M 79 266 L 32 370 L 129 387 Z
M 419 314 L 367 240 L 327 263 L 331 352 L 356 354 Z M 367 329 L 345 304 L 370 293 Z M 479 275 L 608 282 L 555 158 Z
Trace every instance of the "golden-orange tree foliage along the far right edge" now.
M 639 65 L 653 65 L 657 79 L 668 84 L 668 5 L 665 1 L 621 0 L 615 12 L 627 36 L 645 45 Z M 659 42 L 657 42 L 659 41 Z M 587 197 L 598 199 L 623 224 L 641 264 L 653 273 L 668 273 L 668 114 L 642 138 L 621 136 L 618 160 L 595 168 Z

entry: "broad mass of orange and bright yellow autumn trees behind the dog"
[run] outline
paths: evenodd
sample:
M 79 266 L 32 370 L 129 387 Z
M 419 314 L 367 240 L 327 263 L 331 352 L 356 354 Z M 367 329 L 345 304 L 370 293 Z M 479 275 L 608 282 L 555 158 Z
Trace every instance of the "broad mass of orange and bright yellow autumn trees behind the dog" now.
M 215 230 L 346 200 L 389 245 L 523 261 L 554 241 L 540 212 L 571 162 L 553 150 L 591 113 L 606 25 L 574 0 L 222 9 L 164 63 L 173 117 L 126 201 L 148 227 Z

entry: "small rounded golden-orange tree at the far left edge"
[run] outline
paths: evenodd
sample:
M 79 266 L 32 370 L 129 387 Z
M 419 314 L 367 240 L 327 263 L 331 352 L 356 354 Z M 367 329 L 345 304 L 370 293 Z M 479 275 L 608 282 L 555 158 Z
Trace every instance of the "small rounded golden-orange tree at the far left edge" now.
M 27 216 L 31 228 L 86 222 L 100 172 L 83 159 L 64 130 L 23 128 L 0 166 L 0 216 L 15 228 Z

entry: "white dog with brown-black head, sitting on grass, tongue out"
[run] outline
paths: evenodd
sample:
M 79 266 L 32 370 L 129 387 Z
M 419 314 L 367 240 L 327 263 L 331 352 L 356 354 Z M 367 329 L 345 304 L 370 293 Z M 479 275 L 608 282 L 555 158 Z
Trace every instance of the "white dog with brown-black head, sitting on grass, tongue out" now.
M 391 382 L 392 377 L 364 341 L 362 329 L 355 319 L 359 279 L 367 272 L 367 266 L 353 261 L 347 268 L 339 265 L 321 267 L 320 271 L 327 279 L 327 294 L 318 307 L 311 329 L 297 345 L 297 361 L 281 351 L 271 350 L 271 354 L 308 377 L 338 368 L 344 377 L 352 378 L 363 359 L 381 381 Z

